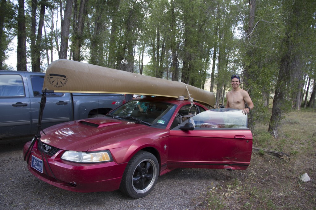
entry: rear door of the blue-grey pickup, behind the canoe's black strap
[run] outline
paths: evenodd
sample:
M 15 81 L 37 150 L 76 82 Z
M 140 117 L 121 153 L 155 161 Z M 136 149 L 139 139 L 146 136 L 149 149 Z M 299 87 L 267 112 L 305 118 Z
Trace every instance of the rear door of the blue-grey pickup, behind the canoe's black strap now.
M 43 75 L 31 75 L 29 84 L 32 106 L 31 132 L 36 133 L 39 118 L 40 101 L 44 83 Z M 58 123 L 72 120 L 72 105 L 69 93 L 46 93 L 46 105 L 42 118 L 42 129 Z

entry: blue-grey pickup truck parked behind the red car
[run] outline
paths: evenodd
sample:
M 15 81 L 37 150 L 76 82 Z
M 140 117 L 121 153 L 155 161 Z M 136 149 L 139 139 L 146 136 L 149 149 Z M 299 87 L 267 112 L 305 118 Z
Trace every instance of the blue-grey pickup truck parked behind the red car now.
M 0 139 L 37 131 L 45 73 L 0 70 Z M 47 93 L 42 129 L 103 116 L 125 103 L 124 94 Z

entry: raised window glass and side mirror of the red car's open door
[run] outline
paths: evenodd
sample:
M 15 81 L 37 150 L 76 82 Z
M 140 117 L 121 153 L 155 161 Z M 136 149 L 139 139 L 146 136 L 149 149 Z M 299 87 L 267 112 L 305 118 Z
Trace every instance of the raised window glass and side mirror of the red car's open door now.
M 247 115 L 239 109 L 210 109 L 185 120 L 179 126 L 187 122 L 191 122 L 194 129 L 247 128 Z

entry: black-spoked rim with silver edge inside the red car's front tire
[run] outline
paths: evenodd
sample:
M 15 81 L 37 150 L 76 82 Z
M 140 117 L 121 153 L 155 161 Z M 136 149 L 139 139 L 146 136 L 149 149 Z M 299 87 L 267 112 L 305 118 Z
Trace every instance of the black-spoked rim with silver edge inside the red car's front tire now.
M 151 159 L 140 161 L 133 172 L 132 186 L 135 192 L 142 194 L 155 184 L 157 165 Z

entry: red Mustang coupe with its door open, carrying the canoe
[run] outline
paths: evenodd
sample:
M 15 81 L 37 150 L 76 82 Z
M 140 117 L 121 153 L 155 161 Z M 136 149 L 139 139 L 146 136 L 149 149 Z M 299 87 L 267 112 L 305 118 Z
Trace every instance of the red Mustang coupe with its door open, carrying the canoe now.
M 164 97 L 131 100 L 104 117 L 49 127 L 24 146 L 30 172 L 75 192 L 148 195 L 175 168 L 245 170 L 252 133 L 241 110 Z M 29 150 L 28 150 L 29 149 Z

